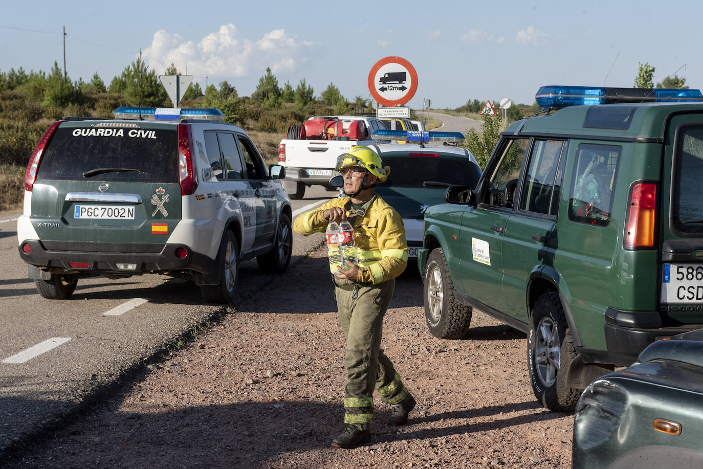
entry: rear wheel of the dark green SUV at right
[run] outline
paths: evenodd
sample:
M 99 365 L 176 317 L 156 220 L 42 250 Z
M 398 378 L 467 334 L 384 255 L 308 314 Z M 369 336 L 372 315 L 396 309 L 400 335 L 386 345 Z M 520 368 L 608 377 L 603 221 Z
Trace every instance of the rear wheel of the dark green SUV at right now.
M 567 384 L 577 354 L 559 294 L 541 295 L 529 323 L 527 364 L 534 395 L 550 411 L 573 411 L 583 390 Z

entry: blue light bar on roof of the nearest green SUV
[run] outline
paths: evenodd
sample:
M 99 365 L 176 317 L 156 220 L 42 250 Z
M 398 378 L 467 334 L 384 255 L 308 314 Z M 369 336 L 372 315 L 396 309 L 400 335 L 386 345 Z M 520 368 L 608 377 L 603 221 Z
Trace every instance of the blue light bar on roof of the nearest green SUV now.
M 703 94 L 697 89 L 550 85 L 542 86 L 534 98 L 540 108 L 549 109 L 566 108 L 573 105 L 703 101 Z

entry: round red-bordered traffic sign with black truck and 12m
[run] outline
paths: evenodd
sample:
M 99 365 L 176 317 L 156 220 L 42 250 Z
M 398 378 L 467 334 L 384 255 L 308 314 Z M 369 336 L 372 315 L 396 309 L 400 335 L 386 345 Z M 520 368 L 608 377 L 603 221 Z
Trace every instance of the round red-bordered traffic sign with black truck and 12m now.
M 382 58 L 368 72 L 368 91 L 382 105 L 405 104 L 415 96 L 417 89 L 418 74 L 402 57 Z

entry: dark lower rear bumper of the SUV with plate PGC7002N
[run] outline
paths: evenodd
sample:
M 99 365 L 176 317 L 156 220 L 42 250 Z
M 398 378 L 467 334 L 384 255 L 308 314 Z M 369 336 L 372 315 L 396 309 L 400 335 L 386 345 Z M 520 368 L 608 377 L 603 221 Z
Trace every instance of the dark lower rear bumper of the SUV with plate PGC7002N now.
M 32 248 L 29 254 L 22 246 Z M 132 250 L 138 250 L 138 244 L 132 245 Z M 176 250 L 186 250 L 186 257 L 178 257 Z M 101 252 L 97 250 L 48 250 L 39 240 L 25 240 L 18 248 L 20 259 L 43 270 L 54 273 L 60 271 L 86 274 L 122 274 L 140 275 L 148 273 L 164 273 L 165 271 L 194 271 L 200 274 L 209 272 L 214 265 L 214 259 L 193 252 L 183 244 L 163 245 L 159 252 Z M 144 249 L 146 250 L 146 249 Z M 76 269 L 69 262 L 87 262 L 86 269 Z M 120 269 L 117 264 L 136 264 L 135 269 Z

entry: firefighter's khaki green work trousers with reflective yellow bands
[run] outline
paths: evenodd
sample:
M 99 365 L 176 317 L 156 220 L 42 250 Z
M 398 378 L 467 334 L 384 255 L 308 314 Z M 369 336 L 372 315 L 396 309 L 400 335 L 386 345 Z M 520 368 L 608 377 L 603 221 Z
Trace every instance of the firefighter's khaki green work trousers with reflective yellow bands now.
M 383 317 L 393 297 L 395 280 L 378 285 L 336 277 L 334 281 L 340 325 L 347 339 L 344 422 L 368 427 L 373 419 L 374 389 L 382 401 L 392 405 L 400 404 L 408 396 L 400 376 L 381 349 Z

